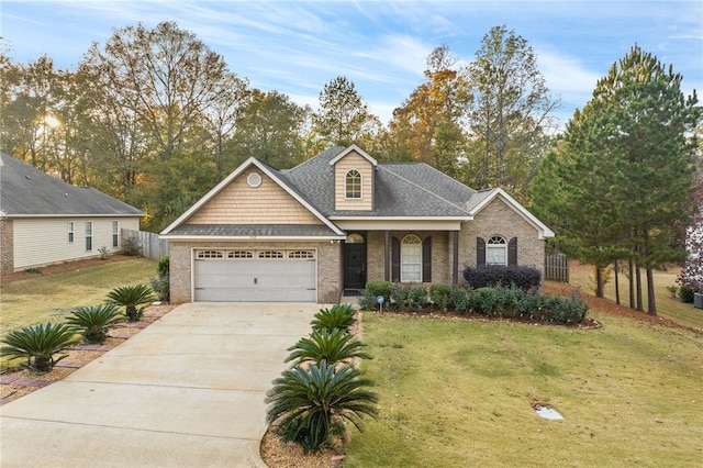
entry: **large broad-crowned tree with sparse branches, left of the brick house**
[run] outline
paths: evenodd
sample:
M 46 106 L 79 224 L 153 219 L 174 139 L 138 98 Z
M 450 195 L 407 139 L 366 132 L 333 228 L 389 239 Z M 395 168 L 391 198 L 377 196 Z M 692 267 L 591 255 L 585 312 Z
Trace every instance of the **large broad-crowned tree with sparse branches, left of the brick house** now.
M 165 160 L 189 141 L 228 77 L 223 58 L 174 22 L 115 29 L 104 48 L 90 47 L 83 65 L 102 78 L 98 89 L 140 120 Z

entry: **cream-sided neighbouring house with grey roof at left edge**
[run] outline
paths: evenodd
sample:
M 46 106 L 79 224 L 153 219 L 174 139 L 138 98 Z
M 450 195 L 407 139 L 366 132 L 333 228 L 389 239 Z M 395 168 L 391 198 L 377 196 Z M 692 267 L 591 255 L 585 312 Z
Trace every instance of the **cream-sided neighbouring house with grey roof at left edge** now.
M 121 249 L 122 229 L 144 213 L 101 191 L 75 187 L 0 152 L 0 272 Z

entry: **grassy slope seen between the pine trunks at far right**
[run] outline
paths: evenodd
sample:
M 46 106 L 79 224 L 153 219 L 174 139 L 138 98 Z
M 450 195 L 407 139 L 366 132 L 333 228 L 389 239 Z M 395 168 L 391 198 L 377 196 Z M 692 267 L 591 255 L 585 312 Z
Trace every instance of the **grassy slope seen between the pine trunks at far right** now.
M 677 283 L 677 276 L 680 272 L 680 268 L 672 267 L 667 271 L 655 271 L 655 299 L 657 303 L 657 315 L 672 320 L 688 326 L 694 326 L 703 330 L 703 310 L 695 309 L 692 303 L 681 302 L 680 299 L 671 298 L 671 293 L 667 290 L 668 286 L 679 286 Z M 571 263 L 569 270 L 570 285 L 581 287 L 581 290 L 588 293 L 593 293 L 595 281 L 593 278 L 592 267 L 588 265 L 579 265 L 578 263 Z M 643 276 L 643 301 L 644 309 L 647 310 L 647 279 L 645 271 Z M 623 305 L 629 307 L 629 280 L 622 272 L 620 277 L 620 300 Z M 605 297 L 615 300 L 615 274 L 612 274 L 611 280 L 604 288 Z

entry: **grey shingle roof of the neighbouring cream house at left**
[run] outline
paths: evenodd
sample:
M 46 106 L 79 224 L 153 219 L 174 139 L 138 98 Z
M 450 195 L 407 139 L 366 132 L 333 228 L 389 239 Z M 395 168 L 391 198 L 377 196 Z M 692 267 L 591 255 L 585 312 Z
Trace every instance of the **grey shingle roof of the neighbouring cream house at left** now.
M 0 152 L 0 215 L 143 216 L 136 208 L 90 187 L 76 187 Z

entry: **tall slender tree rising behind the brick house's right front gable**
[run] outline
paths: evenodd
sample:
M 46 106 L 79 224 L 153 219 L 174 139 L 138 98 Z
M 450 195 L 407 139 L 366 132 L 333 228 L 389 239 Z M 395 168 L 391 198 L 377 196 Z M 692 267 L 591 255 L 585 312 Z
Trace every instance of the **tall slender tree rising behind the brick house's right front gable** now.
M 477 189 L 500 186 L 525 198 L 560 105 L 537 69 L 527 41 L 494 26 L 468 67 L 473 107 L 466 170 Z

